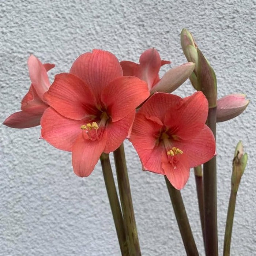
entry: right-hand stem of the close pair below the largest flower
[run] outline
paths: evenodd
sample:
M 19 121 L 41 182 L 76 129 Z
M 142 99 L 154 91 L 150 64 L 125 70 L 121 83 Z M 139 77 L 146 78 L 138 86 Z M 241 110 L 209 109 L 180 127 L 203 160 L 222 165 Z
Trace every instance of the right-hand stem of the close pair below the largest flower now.
M 131 189 L 129 184 L 123 143 L 119 148 L 117 148 L 117 150 L 114 151 L 114 161 L 116 165 L 118 188 L 124 215 L 124 223 L 128 239 L 129 252 L 132 256 L 139 256 L 141 255 L 141 252 L 132 205 Z

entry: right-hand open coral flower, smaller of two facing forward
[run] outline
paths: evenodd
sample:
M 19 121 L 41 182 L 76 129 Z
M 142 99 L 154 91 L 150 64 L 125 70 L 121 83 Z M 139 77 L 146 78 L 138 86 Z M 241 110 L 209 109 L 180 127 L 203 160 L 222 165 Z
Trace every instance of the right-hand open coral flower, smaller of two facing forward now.
M 180 98 L 155 93 L 136 113 L 130 141 L 144 170 L 164 174 L 176 189 L 189 169 L 215 155 L 215 139 L 205 125 L 208 102 L 201 91 Z

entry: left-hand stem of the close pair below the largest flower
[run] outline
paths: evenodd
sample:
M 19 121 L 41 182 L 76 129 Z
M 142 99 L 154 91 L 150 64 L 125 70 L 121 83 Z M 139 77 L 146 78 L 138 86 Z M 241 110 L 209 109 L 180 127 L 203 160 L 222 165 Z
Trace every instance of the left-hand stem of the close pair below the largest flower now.
M 116 226 L 116 233 L 118 237 L 118 242 L 120 245 L 120 250 L 123 256 L 129 255 L 128 243 L 125 234 L 124 220 L 121 212 L 120 203 L 118 200 L 116 185 L 114 182 L 114 177 L 109 161 L 109 154 L 102 153 L 101 157 L 101 166 L 104 176 L 104 181 L 109 197 L 109 204 L 111 207 L 114 223 Z

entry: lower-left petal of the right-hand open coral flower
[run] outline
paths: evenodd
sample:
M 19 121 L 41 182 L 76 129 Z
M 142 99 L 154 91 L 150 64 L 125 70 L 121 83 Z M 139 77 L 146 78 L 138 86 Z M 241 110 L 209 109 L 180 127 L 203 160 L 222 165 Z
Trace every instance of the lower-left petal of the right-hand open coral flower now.
M 165 152 L 164 147 L 159 145 L 152 149 L 145 149 L 135 144 L 133 144 L 133 146 L 139 155 L 140 161 L 142 162 L 143 170 L 164 174 L 161 161 L 162 154 Z

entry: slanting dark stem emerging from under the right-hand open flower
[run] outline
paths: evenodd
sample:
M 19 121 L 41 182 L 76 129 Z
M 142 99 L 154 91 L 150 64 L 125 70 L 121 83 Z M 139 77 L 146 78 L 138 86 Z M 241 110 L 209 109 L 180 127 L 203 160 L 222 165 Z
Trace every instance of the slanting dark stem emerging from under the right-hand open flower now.
M 185 206 L 181 197 L 181 193 L 179 190 L 174 188 L 170 181 L 165 176 L 165 181 L 167 185 L 167 189 L 170 195 L 170 199 L 172 201 L 173 210 L 178 222 L 178 227 L 180 229 L 181 237 L 183 240 L 183 244 L 186 250 L 187 255 L 199 255 L 196 243 L 193 238 L 193 234 L 189 225 L 187 213 L 185 210 Z

